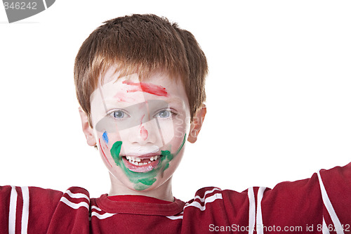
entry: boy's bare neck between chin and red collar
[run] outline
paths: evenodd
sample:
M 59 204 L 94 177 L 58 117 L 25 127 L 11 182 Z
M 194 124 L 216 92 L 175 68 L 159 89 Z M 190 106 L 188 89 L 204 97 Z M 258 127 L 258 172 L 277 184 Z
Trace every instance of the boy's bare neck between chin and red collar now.
M 172 186 L 171 180 L 172 177 L 165 181 L 161 186 L 154 188 L 152 190 L 138 191 L 128 188 L 124 183 L 121 183 L 116 177 L 110 174 L 111 180 L 111 189 L 109 196 L 113 195 L 143 195 L 147 197 L 154 197 L 159 200 L 165 200 L 168 202 L 173 202 Z

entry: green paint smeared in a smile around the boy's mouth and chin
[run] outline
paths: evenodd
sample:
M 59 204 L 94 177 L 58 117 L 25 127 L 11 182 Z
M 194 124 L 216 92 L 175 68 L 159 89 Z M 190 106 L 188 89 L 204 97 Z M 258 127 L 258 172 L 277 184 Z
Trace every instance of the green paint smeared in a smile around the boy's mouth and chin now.
M 126 165 L 124 165 L 124 162 L 122 161 L 121 157 L 119 156 L 119 153 L 121 152 L 121 146 L 122 146 L 121 141 L 115 142 L 112 145 L 110 152 L 111 152 L 112 158 L 113 158 L 114 162 L 116 163 L 116 165 L 118 167 L 121 167 L 121 169 L 124 171 L 124 173 L 128 176 L 129 181 L 131 181 L 131 183 L 135 184 L 134 189 L 135 190 L 145 190 L 145 189 L 149 188 L 150 186 L 152 186 L 152 184 L 157 180 L 156 176 L 159 173 L 159 171 L 161 171 L 161 173 L 163 174 L 164 170 L 166 170 L 169 167 L 169 162 L 171 160 L 173 160 L 173 157 L 178 155 L 180 150 L 183 148 L 186 136 L 187 135 L 185 134 L 184 139 L 183 139 L 183 143 L 180 145 L 180 147 L 178 148 L 178 150 L 175 154 L 171 154 L 171 152 L 168 150 L 161 150 L 162 157 L 159 158 L 159 164 L 157 164 L 157 167 L 155 167 L 151 171 L 147 171 L 147 172 L 131 171 L 126 167 Z

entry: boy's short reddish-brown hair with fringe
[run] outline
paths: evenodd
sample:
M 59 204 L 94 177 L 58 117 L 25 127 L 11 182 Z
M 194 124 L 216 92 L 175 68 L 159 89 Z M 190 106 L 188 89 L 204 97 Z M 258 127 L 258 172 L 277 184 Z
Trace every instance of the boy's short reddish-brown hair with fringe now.
M 119 77 L 156 70 L 180 77 L 189 99 L 190 115 L 206 99 L 206 57 L 194 36 L 157 15 L 129 15 L 107 20 L 84 41 L 74 63 L 74 84 L 81 108 L 91 115 L 91 93 L 104 72 L 116 66 Z M 101 81 L 102 82 L 102 81 Z

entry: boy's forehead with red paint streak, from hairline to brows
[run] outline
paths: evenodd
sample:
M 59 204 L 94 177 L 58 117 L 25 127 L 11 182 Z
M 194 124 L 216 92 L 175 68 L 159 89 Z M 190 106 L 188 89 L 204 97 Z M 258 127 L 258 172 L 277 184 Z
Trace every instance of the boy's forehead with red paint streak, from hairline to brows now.
M 120 77 L 119 72 L 111 67 L 100 77 L 90 100 L 92 114 L 96 110 L 101 115 L 112 108 L 126 108 L 149 100 L 164 100 L 170 105 L 190 110 L 183 82 L 166 72 L 154 72 L 140 81 L 136 73 Z

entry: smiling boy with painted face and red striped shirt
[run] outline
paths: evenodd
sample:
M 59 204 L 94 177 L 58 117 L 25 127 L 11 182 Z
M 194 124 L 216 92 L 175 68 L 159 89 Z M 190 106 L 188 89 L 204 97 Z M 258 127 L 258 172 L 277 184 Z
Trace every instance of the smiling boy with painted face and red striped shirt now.
M 4 233 L 350 233 L 351 164 L 242 193 L 201 188 L 185 203 L 171 177 L 206 115 L 204 53 L 155 15 L 105 22 L 82 44 L 74 80 L 88 145 L 111 190 L 90 199 L 33 187 L 0 190 Z

